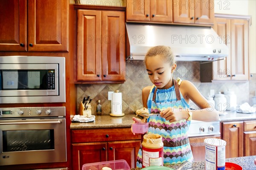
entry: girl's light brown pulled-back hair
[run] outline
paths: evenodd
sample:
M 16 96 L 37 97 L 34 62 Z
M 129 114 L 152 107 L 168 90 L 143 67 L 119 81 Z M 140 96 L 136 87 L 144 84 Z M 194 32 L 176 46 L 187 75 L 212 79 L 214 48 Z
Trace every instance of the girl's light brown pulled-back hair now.
M 146 62 L 148 57 L 154 57 L 156 55 L 162 56 L 166 60 L 166 62 L 171 63 L 171 65 L 175 63 L 171 48 L 164 45 L 159 45 L 150 48 L 147 54 L 145 55 L 144 62 Z

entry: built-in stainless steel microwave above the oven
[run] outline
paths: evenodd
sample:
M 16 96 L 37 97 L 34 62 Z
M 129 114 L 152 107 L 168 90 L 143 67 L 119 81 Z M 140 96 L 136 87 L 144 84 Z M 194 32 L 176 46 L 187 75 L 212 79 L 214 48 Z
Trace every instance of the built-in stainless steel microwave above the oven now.
M 66 102 L 65 58 L 0 56 L 0 103 Z

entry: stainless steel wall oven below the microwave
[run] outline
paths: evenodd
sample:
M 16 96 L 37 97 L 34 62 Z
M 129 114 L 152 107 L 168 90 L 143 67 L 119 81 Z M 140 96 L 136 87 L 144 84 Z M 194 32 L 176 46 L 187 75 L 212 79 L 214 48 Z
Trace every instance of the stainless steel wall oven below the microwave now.
M 0 165 L 67 161 L 65 111 L 0 108 Z

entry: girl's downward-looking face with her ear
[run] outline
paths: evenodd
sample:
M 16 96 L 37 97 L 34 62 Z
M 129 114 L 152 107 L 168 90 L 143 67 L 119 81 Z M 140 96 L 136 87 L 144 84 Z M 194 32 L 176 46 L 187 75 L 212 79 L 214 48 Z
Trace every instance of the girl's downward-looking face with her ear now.
M 146 59 L 146 69 L 151 82 L 159 89 L 167 89 L 172 86 L 172 72 L 176 64 L 165 62 L 164 57 L 154 56 Z

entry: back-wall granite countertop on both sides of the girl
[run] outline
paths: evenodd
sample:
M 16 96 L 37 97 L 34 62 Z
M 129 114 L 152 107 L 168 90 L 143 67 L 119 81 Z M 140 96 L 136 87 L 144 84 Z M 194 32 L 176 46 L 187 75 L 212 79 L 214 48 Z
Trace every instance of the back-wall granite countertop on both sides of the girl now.
M 225 113 L 224 116 L 220 116 L 220 122 L 256 120 L 256 113 L 237 113 L 236 111 Z M 71 123 L 70 129 L 131 127 L 131 124 L 134 122 L 132 117 L 137 117 L 134 113 L 126 113 L 125 116 L 121 117 L 113 117 L 109 114 L 95 116 L 95 122 Z

